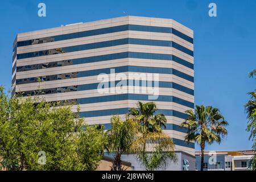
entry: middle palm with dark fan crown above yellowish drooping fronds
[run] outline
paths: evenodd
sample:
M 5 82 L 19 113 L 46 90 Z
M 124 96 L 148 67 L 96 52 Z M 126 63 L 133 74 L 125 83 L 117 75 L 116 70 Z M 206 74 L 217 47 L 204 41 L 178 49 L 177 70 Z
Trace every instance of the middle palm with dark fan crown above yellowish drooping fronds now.
M 176 160 L 172 139 L 162 132 L 167 119 L 163 114 L 155 114 L 154 102 L 138 102 L 138 109 L 131 108 L 129 117 L 139 123 L 139 135 L 133 142 L 137 158 L 147 170 L 164 168 L 168 159 Z

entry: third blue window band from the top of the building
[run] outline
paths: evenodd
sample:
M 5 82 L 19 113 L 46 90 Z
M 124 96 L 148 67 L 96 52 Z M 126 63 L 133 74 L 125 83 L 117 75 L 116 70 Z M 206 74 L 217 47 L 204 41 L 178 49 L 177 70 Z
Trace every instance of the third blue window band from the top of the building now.
M 112 53 L 109 55 L 83 57 L 79 59 L 55 61 L 55 62 L 43 63 L 43 64 L 25 65 L 25 66 L 17 67 L 16 71 L 23 72 L 23 71 L 31 71 L 36 69 L 63 67 L 67 65 L 76 65 L 76 64 L 85 64 L 85 63 L 96 63 L 100 61 L 108 61 L 108 60 L 124 59 L 124 58 L 170 60 L 170 61 L 175 61 L 176 63 L 179 63 L 181 65 L 184 65 L 185 67 L 193 69 L 192 63 L 189 63 L 188 61 L 185 61 L 174 55 L 161 54 L 161 53 L 144 53 L 144 52 L 121 52 L 121 53 Z

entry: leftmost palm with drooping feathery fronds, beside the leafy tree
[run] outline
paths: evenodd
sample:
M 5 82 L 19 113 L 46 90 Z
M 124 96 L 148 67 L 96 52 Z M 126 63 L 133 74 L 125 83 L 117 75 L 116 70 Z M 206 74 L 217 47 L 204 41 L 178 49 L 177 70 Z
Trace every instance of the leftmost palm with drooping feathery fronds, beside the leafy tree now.
M 112 128 L 106 131 L 108 135 L 108 144 L 106 150 L 114 152 L 114 161 L 112 171 L 124 171 L 121 163 L 121 155 L 124 152 L 130 152 L 131 144 L 134 142 L 134 136 L 137 135 L 138 123 L 133 119 L 126 118 L 126 121 L 118 115 L 112 117 Z

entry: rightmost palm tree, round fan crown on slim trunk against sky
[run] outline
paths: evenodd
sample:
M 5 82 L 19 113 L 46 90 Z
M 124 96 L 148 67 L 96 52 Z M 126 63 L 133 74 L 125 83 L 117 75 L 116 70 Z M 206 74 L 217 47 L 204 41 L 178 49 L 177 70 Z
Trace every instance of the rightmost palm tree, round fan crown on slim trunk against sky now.
M 185 111 L 185 113 L 188 114 L 188 117 L 185 122 L 181 123 L 181 126 L 188 129 L 185 140 L 199 143 L 201 147 L 201 171 L 203 171 L 205 143 L 220 143 L 222 137 L 228 134 L 225 128 L 228 122 L 225 121 L 220 110 L 212 106 L 196 105 L 195 113 L 192 109 Z

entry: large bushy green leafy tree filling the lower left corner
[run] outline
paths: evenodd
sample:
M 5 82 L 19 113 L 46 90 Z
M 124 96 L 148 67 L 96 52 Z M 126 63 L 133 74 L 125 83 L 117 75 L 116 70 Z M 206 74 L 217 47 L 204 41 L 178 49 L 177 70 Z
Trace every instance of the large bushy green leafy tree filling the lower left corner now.
M 86 126 L 72 105 L 39 97 L 9 98 L 0 87 L 0 164 L 9 170 L 95 170 L 103 130 Z M 90 147 L 88 147 L 90 146 Z M 46 154 L 45 158 L 44 155 Z

